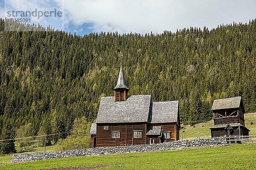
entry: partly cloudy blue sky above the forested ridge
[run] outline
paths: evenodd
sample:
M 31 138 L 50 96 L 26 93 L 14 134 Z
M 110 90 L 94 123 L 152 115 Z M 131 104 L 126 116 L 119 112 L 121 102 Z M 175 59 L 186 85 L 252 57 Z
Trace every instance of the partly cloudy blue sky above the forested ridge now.
M 59 16 L 24 17 L 17 11 L 60 11 Z M 14 11 L 14 13 L 12 13 Z M 9 13 L 8 13 L 9 12 Z M 47 13 L 48 12 L 48 13 Z M 12 14 L 9 16 L 8 14 Z M 54 13 L 52 13 L 54 14 Z M 56 13 L 55 13 L 56 14 Z M 189 27 L 216 28 L 256 18 L 255 0 L 0 0 L 0 17 L 30 18 L 30 23 L 67 32 L 175 32 Z

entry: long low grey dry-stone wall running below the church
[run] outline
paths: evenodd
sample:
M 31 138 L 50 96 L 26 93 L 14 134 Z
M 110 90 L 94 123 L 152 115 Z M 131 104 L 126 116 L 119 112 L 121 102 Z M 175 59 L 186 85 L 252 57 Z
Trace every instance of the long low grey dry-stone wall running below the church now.
M 24 154 L 14 154 L 12 156 L 12 163 L 23 161 L 36 161 L 43 159 L 56 159 L 56 158 L 70 158 L 76 156 L 96 156 L 96 155 L 108 155 L 119 153 L 136 153 L 136 152 L 150 152 L 160 150 L 175 150 L 187 147 L 200 147 L 200 146 L 223 146 L 227 144 L 227 140 L 224 137 L 211 138 L 211 139 L 196 139 L 196 140 L 184 140 L 175 142 L 165 142 L 160 144 L 144 144 L 144 145 L 132 145 L 132 146 L 118 146 L 118 147 L 96 147 L 87 148 L 81 150 L 67 150 L 59 152 L 34 152 Z

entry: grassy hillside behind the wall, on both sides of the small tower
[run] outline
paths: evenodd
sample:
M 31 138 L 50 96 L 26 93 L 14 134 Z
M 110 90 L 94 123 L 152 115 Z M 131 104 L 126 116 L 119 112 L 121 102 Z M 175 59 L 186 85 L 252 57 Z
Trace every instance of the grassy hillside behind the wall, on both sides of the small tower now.
M 250 129 L 250 135 L 256 135 L 256 113 L 246 113 L 244 114 L 245 127 Z M 250 122 L 253 122 L 253 125 L 250 125 Z M 211 131 L 209 127 L 213 125 L 213 120 L 205 123 L 199 123 L 193 126 L 182 126 L 185 129 L 180 129 L 180 135 L 183 135 L 183 139 L 196 139 L 196 136 L 199 137 L 211 137 Z

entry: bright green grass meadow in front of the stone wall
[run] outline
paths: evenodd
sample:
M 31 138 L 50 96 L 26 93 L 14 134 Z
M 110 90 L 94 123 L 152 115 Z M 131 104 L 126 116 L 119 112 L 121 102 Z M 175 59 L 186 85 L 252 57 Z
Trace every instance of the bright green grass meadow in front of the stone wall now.
M 42 170 L 51 167 L 70 167 L 109 164 L 104 170 L 253 170 L 256 169 L 256 144 L 232 144 L 225 147 L 189 150 L 129 153 L 110 156 L 88 156 L 52 159 L 19 164 L 0 164 L 1 170 Z M 117 165 L 114 165 L 117 164 Z

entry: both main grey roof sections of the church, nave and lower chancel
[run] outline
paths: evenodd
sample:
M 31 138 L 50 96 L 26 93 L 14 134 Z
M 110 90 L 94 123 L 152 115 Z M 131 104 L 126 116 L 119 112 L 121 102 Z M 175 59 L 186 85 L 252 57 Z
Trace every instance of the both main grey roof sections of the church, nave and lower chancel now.
M 102 97 L 96 123 L 171 123 L 178 119 L 178 101 L 151 102 L 151 95 L 132 95 L 126 101 Z

